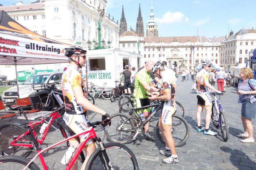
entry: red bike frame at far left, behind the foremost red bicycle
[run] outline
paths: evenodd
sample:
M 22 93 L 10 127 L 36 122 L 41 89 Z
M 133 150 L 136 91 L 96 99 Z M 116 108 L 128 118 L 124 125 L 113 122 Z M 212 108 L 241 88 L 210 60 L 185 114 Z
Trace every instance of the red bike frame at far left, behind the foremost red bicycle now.
M 46 126 L 46 128 L 45 128 L 45 130 L 44 130 L 44 133 L 42 134 L 43 137 L 41 138 L 41 140 L 36 139 L 36 141 L 37 141 L 40 145 L 44 142 L 44 139 L 45 139 L 46 135 L 48 134 L 48 132 L 49 132 L 51 126 L 52 126 L 53 121 L 54 121 L 56 118 L 59 118 L 59 117 L 60 117 L 60 114 L 59 114 L 59 112 L 53 112 L 53 113 L 50 114 L 49 116 L 52 116 L 52 117 L 51 117 L 51 119 L 50 119 L 48 125 Z M 27 126 L 29 126 L 29 127 L 32 129 L 32 133 L 33 133 L 33 136 L 34 136 L 34 137 L 36 137 L 36 130 L 34 129 L 34 127 L 35 127 L 36 125 L 43 124 L 44 121 L 45 121 L 45 119 L 46 119 L 46 118 L 43 118 L 40 122 L 31 122 L 31 123 L 28 123 Z M 59 122 L 56 122 L 56 123 L 57 123 L 59 129 L 62 131 L 63 129 L 61 128 Z M 10 143 L 10 145 L 12 145 L 12 146 L 34 147 L 33 144 L 16 144 L 16 143 L 15 143 L 16 141 L 20 141 L 20 138 L 22 138 L 22 137 L 28 135 L 29 133 L 30 133 L 30 131 L 29 131 L 29 129 L 28 129 L 27 132 L 25 132 L 25 133 L 22 134 L 21 136 L 17 137 L 15 140 L 13 140 L 13 141 Z M 64 135 L 64 133 L 62 133 L 62 134 Z M 63 136 L 63 137 L 65 137 L 65 136 Z

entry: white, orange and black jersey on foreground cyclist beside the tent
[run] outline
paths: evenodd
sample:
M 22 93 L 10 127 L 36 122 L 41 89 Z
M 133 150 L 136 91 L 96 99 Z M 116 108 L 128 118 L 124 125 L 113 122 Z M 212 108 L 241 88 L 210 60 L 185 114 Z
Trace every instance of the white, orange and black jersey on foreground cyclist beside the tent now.
M 65 110 L 67 114 L 83 114 L 86 111 L 86 109 L 84 109 L 81 105 L 77 104 L 72 90 L 74 87 L 82 88 L 83 84 L 83 79 L 81 74 L 78 72 L 78 69 L 72 65 L 69 66 L 61 78 L 61 89 L 64 96 Z

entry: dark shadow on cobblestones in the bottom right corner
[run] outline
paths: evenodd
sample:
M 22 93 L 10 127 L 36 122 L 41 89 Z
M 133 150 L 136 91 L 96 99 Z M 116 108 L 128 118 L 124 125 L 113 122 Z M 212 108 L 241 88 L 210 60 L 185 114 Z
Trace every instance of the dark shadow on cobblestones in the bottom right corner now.
M 230 153 L 229 160 L 236 168 L 248 169 L 248 166 L 252 168 L 256 167 L 255 162 L 253 162 L 244 152 L 237 149 L 232 150 L 231 148 L 226 146 L 221 146 L 220 149 L 224 152 Z M 233 154 L 235 155 L 235 157 L 232 157 Z

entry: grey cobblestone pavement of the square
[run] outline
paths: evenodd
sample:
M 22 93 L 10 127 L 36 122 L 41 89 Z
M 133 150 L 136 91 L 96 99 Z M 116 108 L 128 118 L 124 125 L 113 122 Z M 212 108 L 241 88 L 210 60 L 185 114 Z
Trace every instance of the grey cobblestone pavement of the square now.
M 176 148 L 180 162 L 177 164 L 164 164 L 162 159 L 165 156 L 159 154 L 159 149 L 164 149 L 162 144 L 156 137 L 155 127 L 157 118 L 153 118 L 150 122 L 149 132 L 155 137 L 155 142 L 146 141 L 141 136 L 142 142 L 140 145 L 126 144 L 135 154 L 139 163 L 140 169 L 242 169 L 242 170 L 256 170 L 256 144 L 244 144 L 236 137 L 238 133 L 242 133 L 243 126 L 240 119 L 241 104 L 237 103 L 238 95 L 234 87 L 226 88 L 226 94 L 221 96 L 221 104 L 228 117 L 231 127 L 229 128 L 229 139 L 224 142 L 221 137 L 220 129 L 216 129 L 211 123 L 210 128 L 216 130 L 218 135 L 206 136 L 202 132 L 196 131 L 196 92 L 191 91 L 193 81 L 189 80 L 182 82 L 178 78 L 178 89 L 176 99 L 183 105 L 185 109 L 185 119 L 189 123 L 190 135 L 185 145 Z M 216 88 L 216 85 L 215 85 Z M 118 112 L 118 103 L 115 101 L 111 103 L 109 100 L 96 99 L 96 106 L 102 108 L 109 114 Z M 204 125 L 205 112 L 202 114 L 202 125 Z M 101 119 L 101 116 L 95 113 L 89 115 L 91 122 Z M 252 121 L 254 125 L 255 136 L 255 120 Z M 99 137 L 103 139 L 103 133 L 97 132 Z M 50 146 L 62 139 L 60 132 L 53 131 L 47 135 L 42 147 Z M 106 141 L 106 137 L 104 138 Z M 56 162 L 59 169 L 64 169 L 61 166 L 60 160 L 63 157 L 67 147 L 65 144 L 54 147 L 45 152 L 44 159 L 50 167 Z M 35 155 L 35 152 L 33 152 Z M 28 158 L 31 158 L 29 156 Z M 35 160 L 37 165 L 40 165 L 38 159 Z M 42 166 L 40 166 L 42 168 Z

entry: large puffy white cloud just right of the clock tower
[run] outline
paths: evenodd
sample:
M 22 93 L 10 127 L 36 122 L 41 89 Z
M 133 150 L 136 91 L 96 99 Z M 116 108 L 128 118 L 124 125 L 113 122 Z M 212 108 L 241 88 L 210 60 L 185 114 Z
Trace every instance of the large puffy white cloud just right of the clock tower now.
M 175 22 L 181 22 L 184 19 L 184 14 L 181 12 L 166 12 L 163 15 L 163 18 L 156 18 L 156 21 L 160 24 L 166 23 L 166 24 L 171 24 Z M 185 18 L 185 20 L 188 22 L 189 19 L 188 17 Z

